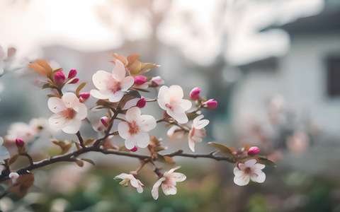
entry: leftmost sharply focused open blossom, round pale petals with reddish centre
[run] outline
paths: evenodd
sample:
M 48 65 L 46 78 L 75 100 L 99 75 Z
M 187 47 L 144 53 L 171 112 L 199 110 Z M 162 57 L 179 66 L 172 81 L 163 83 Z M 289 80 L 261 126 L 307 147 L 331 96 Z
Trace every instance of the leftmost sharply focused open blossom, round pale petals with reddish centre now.
M 62 99 L 52 97 L 47 104 L 48 108 L 55 113 L 48 119 L 50 125 L 62 129 L 67 134 L 77 133 L 81 120 L 87 117 L 86 106 L 79 102 L 74 93 L 65 93 Z

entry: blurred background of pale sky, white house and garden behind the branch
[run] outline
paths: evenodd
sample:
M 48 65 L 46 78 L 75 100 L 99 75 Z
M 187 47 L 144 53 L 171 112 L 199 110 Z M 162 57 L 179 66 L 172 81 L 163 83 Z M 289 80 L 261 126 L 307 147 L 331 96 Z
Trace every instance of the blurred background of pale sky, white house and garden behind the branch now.
M 4 0 L 0 45 L 1 136 L 16 136 L 15 123 L 25 131 L 32 119 L 51 115 L 49 91 L 40 90 L 29 62 L 77 69 L 89 91 L 96 71 L 113 69 L 110 54 L 138 53 L 140 61 L 161 65 L 149 76 L 181 86 L 186 98 L 198 86 L 217 100 L 217 109 L 203 111 L 210 124 L 198 153 L 213 150 L 204 145 L 209 141 L 247 144 L 278 165 L 265 168 L 263 184 L 238 187 L 232 164 L 174 158 L 187 179 L 178 194 L 160 192 L 154 201 L 157 177 L 147 167 L 138 175 L 145 192 L 137 194 L 113 180 L 135 170 L 136 160 L 86 155 L 96 167 L 35 170 L 28 194 L 2 198 L 2 211 L 340 211 L 339 0 Z M 162 117 L 157 105 L 148 108 L 143 112 Z M 91 113 L 90 121 L 101 115 Z M 96 136 L 84 125 L 84 136 Z M 153 133 L 169 146 L 164 153 L 189 153 L 186 139 L 166 138 L 163 128 Z M 30 151 L 51 151 L 49 140 L 41 134 Z

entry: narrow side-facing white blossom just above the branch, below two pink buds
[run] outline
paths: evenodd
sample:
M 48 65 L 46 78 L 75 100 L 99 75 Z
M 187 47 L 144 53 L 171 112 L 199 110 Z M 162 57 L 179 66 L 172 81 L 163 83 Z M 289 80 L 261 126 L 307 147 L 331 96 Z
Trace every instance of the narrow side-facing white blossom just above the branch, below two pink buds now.
M 195 142 L 202 142 L 202 138 L 206 136 L 204 127 L 209 124 L 209 120 L 203 119 L 203 117 L 201 114 L 193 119 L 193 125 L 189 131 L 189 147 L 193 152 L 195 151 Z

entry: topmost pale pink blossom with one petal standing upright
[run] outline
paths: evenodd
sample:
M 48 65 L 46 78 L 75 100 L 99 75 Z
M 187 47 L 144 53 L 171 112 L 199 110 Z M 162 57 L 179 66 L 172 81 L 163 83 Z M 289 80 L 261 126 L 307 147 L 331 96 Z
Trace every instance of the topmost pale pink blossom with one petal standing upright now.
M 132 76 L 125 77 L 125 67 L 119 60 L 115 61 L 112 73 L 97 71 L 92 76 L 92 81 L 98 90 L 91 90 L 91 95 L 101 100 L 108 99 L 110 102 L 119 102 L 125 91 L 135 83 Z

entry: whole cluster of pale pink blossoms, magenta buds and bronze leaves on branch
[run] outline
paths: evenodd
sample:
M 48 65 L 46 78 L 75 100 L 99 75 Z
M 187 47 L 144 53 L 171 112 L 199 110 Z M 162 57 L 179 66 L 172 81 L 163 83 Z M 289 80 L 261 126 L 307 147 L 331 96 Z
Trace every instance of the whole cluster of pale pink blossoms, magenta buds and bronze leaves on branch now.
M 167 135 L 176 139 L 186 139 L 188 148 L 195 152 L 196 143 L 203 141 L 206 136 L 205 127 L 209 124 L 209 120 L 204 119 L 201 110 L 215 109 L 217 101 L 204 98 L 200 93 L 200 88 L 193 88 L 189 93 L 190 99 L 185 99 L 181 86 L 168 87 L 164 85 L 165 82 L 160 76 L 145 76 L 150 69 L 159 66 L 141 62 L 139 54 L 131 54 L 128 57 L 118 54 L 112 54 L 112 56 L 115 58 L 111 61 L 115 64 L 113 70 L 111 72 L 96 71 L 92 76 L 95 88 L 84 93 L 81 93 L 81 90 L 86 86 L 86 82 L 80 83 L 75 92 L 63 92 L 63 88 L 67 84 L 79 83 L 79 78 L 76 78 L 76 69 L 71 69 L 66 77 L 64 69 L 52 69 L 50 64 L 43 59 L 29 65 L 41 76 L 45 76 L 46 83 L 42 88 L 50 88 L 54 91 L 53 94 L 48 95 L 47 106 L 52 115 L 47 124 L 45 122 L 45 125 L 55 131 L 61 130 L 66 134 L 77 134 L 79 139 L 78 142 L 54 139 L 52 143 L 60 147 L 60 155 L 64 155 L 61 158 L 64 157 L 65 161 L 74 161 L 79 166 L 83 164 L 81 160 L 92 164 L 94 162 L 89 159 L 79 160 L 74 158 L 74 155 L 69 153 L 70 148 L 74 145 L 77 147 L 77 151 L 81 151 L 81 153 L 102 151 L 103 153 L 118 154 L 120 151 L 128 151 L 130 152 L 128 155 L 131 156 L 140 148 L 146 148 L 149 155 L 135 156 L 136 158 L 140 157 L 141 166 L 129 174 L 117 175 L 115 179 L 123 179 L 120 184 L 135 187 L 137 192 L 141 193 L 144 184 L 136 179 L 135 175 L 138 175 L 142 167 L 149 163 L 154 167 L 154 173 L 158 177 L 152 188 L 152 197 L 158 199 L 159 187 L 161 186 L 165 195 L 176 194 L 176 182 L 183 182 L 186 175 L 175 172 L 180 166 L 166 172 L 162 171 L 163 169 L 159 167 L 158 162 L 175 162 L 171 158 L 172 156 L 159 153 L 166 150 L 166 147 L 162 146 L 162 138 L 157 139 L 152 136 L 152 130 L 162 122 L 170 125 L 171 128 Z M 150 99 L 141 95 L 141 93 L 148 92 L 149 89 L 157 91 L 157 98 Z M 86 106 L 86 101 L 91 97 L 96 100 L 96 105 L 89 109 Z M 162 111 L 159 112 L 159 119 L 150 114 L 142 114 L 141 109 L 146 107 L 147 104 L 158 104 L 159 110 Z M 98 117 L 96 122 L 92 123 L 87 118 L 91 110 L 104 110 L 106 115 Z M 98 132 L 98 138 L 84 139 L 81 136 L 83 120 L 93 125 L 95 131 Z M 45 125 L 43 127 L 47 127 Z M 11 163 L 18 156 L 26 156 L 30 160 L 31 167 L 35 165 L 27 151 L 26 143 L 32 142 L 36 136 L 39 136 L 39 131 L 43 127 L 38 126 L 42 127 L 42 124 L 38 125 L 32 121 L 30 124 L 21 124 L 21 127 L 13 126 L 8 130 L 6 138 L 16 141 L 18 153 L 10 158 L 8 151 L 4 148 L 6 151 L 2 151 L 4 161 L 1 165 L 6 170 L 4 173 L 7 177 L 12 179 L 13 185 L 18 184 L 16 181 L 20 182 L 21 177 L 11 170 Z M 20 131 L 20 133 L 16 133 L 16 131 Z M 117 136 L 125 140 L 123 146 L 116 143 L 115 138 Z M 266 158 L 257 155 L 259 148 L 247 146 L 236 151 L 220 143 L 210 142 L 208 145 L 217 148 L 217 151 L 208 154 L 205 158 L 215 158 L 220 155 L 225 157 L 225 160 L 236 164 L 234 168 L 235 184 L 243 186 L 248 184 L 250 180 L 261 183 L 266 178 L 261 170 L 265 167 L 265 164 L 270 163 Z M 0 146 L 0 148 L 2 147 Z M 196 157 L 198 156 L 193 155 L 193 158 Z

